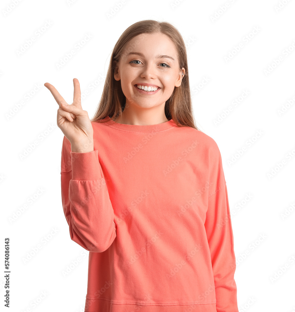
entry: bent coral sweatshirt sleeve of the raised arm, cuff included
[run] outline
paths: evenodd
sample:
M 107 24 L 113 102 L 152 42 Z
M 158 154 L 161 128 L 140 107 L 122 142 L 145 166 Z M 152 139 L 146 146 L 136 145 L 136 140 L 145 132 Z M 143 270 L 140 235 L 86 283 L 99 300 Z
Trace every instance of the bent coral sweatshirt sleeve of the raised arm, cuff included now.
M 103 252 L 116 237 L 116 224 L 98 151 L 74 153 L 64 136 L 61 154 L 61 197 L 70 237 L 88 251 Z

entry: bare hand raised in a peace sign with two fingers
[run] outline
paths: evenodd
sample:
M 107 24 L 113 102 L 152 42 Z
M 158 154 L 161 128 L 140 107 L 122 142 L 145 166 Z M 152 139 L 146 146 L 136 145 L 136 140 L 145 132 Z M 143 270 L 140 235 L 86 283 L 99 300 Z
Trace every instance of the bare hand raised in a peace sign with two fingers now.
M 44 86 L 51 92 L 59 108 L 57 125 L 70 141 L 72 152 L 87 153 L 93 151 L 93 128 L 86 110 L 81 106 L 81 90 L 77 78 L 74 83 L 74 101 L 67 104 L 53 85 L 46 82 Z

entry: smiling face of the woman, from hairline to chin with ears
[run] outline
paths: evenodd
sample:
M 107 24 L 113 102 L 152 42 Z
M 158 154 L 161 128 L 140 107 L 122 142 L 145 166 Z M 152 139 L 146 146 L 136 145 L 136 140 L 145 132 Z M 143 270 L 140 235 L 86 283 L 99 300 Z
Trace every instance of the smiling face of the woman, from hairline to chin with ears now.
M 179 68 L 173 41 L 160 33 L 143 33 L 132 38 L 116 65 L 114 78 L 121 80 L 125 107 L 164 106 L 174 88 L 181 85 L 185 72 Z M 151 91 L 139 89 L 139 85 L 146 88 L 150 85 Z M 153 86 L 157 90 L 152 91 Z

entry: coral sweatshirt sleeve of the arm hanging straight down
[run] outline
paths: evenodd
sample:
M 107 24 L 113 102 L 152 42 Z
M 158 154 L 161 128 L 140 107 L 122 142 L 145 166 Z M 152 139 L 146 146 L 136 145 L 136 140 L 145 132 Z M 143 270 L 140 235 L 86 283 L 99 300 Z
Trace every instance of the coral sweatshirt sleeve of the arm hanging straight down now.
M 227 187 L 221 154 L 215 145 L 210 157 L 212 188 L 209 191 L 205 229 L 211 253 L 217 312 L 238 312 L 237 286 L 234 280 L 236 258 L 231 227 Z

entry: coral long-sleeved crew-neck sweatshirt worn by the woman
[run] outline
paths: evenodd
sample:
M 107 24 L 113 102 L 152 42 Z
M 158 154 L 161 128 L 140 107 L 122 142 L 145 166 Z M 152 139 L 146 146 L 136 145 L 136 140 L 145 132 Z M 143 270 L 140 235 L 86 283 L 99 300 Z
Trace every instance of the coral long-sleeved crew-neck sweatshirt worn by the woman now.
M 85 311 L 238 312 L 226 181 L 210 136 L 171 119 L 91 122 L 94 151 L 64 137 L 70 237 L 89 251 Z

